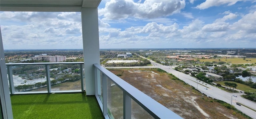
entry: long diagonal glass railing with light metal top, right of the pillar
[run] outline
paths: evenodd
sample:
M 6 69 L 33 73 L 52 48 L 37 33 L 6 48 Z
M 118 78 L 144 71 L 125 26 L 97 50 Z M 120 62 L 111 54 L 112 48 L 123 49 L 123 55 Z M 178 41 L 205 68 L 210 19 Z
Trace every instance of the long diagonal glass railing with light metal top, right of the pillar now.
M 99 64 L 94 64 L 95 95 L 106 119 L 182 119 Z

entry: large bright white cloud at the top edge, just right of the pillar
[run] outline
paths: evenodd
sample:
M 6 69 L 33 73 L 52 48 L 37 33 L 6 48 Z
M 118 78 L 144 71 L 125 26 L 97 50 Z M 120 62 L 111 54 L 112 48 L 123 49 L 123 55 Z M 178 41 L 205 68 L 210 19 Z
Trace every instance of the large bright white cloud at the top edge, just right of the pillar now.
M 145 0 L 135 3 L 132 0 L 110 0 L 105 8 L 99 10 L 99 16 L 108 19 L 157 18 L 179 13 L 185 7 L 185 1 L 180 0 Z

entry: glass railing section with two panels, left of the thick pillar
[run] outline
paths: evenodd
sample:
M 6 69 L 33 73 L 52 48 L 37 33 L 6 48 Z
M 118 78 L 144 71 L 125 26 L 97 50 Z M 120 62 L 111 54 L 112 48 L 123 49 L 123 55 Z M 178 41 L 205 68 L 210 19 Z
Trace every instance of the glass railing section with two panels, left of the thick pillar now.
M 84 62 L 6 63 L 11 94 L 84 91 Z

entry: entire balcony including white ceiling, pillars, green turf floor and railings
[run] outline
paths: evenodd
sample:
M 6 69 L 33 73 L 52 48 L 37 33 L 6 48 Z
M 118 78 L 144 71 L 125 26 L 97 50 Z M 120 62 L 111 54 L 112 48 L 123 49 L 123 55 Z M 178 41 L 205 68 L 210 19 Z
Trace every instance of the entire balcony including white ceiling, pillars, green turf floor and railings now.
M 102 117 L 106 119 L 181 118 L 176 113 L 170 111 L 154 99 L 148 97 L 146 94 L 142 93 L 132 85 L 100 66 L 97 8 L 100 2 L 101 0 L 1 0 L 0 11 L 81 12 L 82 41 L 84 51 L 84 62 L 70 63 L 72 65 L 77 65 L 76 68 L 79 69 L 79 72 L 76 72 L 76 75 L 79 76 L 76 76 L 75 80 L 80 78 L 78 79 L 78 82 L 80 83 L 76 83 L 76 88 L 74 89 L 62 89 L 61 85 L 58 85 L 66 83 L 72 78 L 68 77 L 64 80 L 60 80 L 60 77 L 58 76 L 61 76 L 61 74 L 53 77 L 51 73 L 54 72 L 50 71 L 50 67 L 54 68 L 52 65 L 68 65 L 69 63 L 6 64 L 4 60 L 0 60 L 1 118 L 12 119 L 16 116 L 16 109 L 18 109 L 19 105 L 26 106 L 30 105 L 30 103 L 34 104 L 34 107 L 40 107 L 43 105 L 45 107 L 42 107 L 42 112 L 40 113 L 33 112 L 31 111 L 33 108 L 28 107 L 28 110 L 24 111 L 23 115 L 32 113 L 40 118 L 46 118 L 48 113 L 53 112 L 50 110 L 51 108 L 49 108 L 52 106 L 59 107 L 55 108 L 55 110 L 63 111 L 65 114 L 70 113 L 70 109 L 66 110 L 66 108 L 71 107 L 79 108 L 78 112 L 76 113 L 86 115 L 86 113 L 89 114 L 90 112 L 92 115 L 102 115 Z M 1 31 L 0 58 L 5 58 Z M 23 71 L 20 72 L 21 74 L 29 74 L 29 69 L 22 69 L 23 67 L 26 67 L 25 65 L 34 65 L 34 67 L 40 69 L 38 70 L 38 73 L 41 74 L 30 74 L 32 78 L 29 81 L 20 82 L 22 84 L 29 84 L 30 86 L 26 85 L 25 87 L 18 87 L 19 82 L 17 83 L 14 81 L 14 78 L 16 77 L 13 77 L 13 74 L 16 73 L 15 70 L 17 67 L 21 68 L 18 71 Z M 33 79 L 35 76 L 38 76 L 37 79 L 41 80 L 35 82 Z M 84 91 L 86 92 L 86 96 L 83 95 Z M 81 94 L 82 96 L 75 98 L 75 94 Z M 59 98 L 63 98 L 63 100 L 59 100 L 58 95 L 62 95 Z M 90 98 L 91 96 L 89 95 L 95 97 L 96 100 L 95 98 Z M 28 99 L 25 99 L 25 97 L 28 97 Z M 70 99 L 69 97 L 72 97 L 74 100 Z M 65 98 L 70 100 L 67 101 Z M 97 109 L 92 109 L 92 106 L 85 101 L 86 98 L 88 102 L 98 102 L 97 105 L 99 105 L 98 107 L 102 113 L 98 113 Z M 80 103 L 81 101 L 85 103 L 83 103 L 84 105 L 88 103 L 88 109 L 84 109 L 84 107 L 80 108 L 76 106 L 72 107 L 72 105 L 66 105 Z M 84 116 L 82 116 L 82 118 L 84 118 Z

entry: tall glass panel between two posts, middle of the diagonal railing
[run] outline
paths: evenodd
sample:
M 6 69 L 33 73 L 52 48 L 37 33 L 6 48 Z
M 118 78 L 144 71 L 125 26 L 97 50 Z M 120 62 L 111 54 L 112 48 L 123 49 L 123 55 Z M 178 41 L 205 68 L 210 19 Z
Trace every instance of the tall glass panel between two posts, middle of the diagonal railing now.
M 108 79 L 107 90 L 108 114 L 115 119 L 123 119 L 123 91 L 110 79 Z

